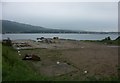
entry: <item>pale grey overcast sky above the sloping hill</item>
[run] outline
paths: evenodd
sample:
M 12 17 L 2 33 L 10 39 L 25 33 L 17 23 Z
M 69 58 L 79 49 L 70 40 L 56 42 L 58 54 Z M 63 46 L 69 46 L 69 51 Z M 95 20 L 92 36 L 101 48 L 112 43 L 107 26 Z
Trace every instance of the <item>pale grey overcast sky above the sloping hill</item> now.
M 118 31 L 118 3 L 3 2 L 2 19 L 54 29 Z

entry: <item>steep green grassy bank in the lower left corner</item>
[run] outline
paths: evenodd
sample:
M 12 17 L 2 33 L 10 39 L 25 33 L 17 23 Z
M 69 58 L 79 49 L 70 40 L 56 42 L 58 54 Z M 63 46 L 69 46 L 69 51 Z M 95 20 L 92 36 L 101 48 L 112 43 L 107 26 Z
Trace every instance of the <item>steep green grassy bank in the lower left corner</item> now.
M 2 80 L 3 81 L 37 81 L 48 80 L 35 72 L 28 64 L 24 63 L 12 47 L 2 47 Z

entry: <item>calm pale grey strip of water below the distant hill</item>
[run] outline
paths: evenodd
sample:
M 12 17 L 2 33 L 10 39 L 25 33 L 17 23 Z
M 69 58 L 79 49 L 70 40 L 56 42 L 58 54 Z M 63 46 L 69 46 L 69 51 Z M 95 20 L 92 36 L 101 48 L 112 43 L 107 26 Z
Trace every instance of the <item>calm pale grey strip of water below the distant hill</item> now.
M 45 37 L 53 38 L 59 37 L 61 39 L 73 39 L 73 40 L 101 40 L 105 37 L 110 36 L 111 39 L 116 39 L 118 34 L 3 34 L 2 38 L 6 39 L 9 37 L 12 40 L 16 39 L 31 39 L 36 40 L 36 38 Z

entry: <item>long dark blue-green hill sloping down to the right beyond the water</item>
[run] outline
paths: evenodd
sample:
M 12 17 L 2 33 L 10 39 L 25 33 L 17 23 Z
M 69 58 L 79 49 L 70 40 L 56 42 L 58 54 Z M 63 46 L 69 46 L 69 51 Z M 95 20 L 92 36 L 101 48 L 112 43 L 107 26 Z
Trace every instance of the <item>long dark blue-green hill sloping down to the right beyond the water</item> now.
M 48 29 L 14 21 L 1 20 L 2 33 L 77 33 L 72 30 Z

